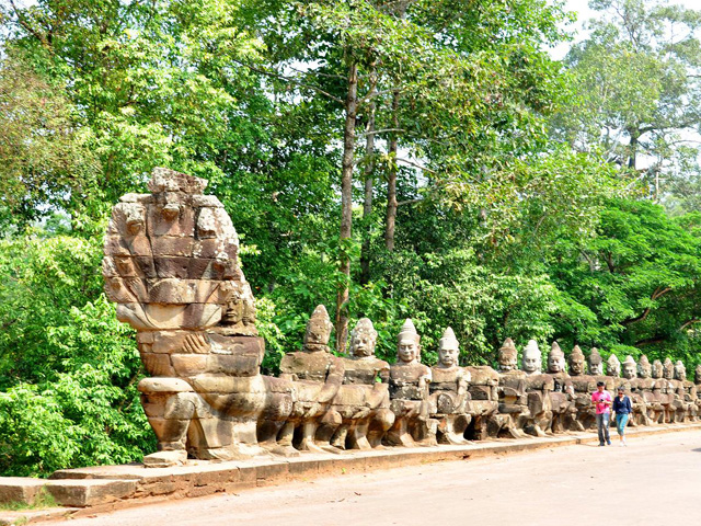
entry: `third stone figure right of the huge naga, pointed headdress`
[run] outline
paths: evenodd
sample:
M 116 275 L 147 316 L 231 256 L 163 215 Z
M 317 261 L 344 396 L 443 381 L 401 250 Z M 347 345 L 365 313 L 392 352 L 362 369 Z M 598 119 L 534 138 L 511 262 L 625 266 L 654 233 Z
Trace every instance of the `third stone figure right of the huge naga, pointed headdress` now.
M 421 338 L 407 319 L 397 341 L 397 363 L 390 367 L 390 407 L 395 420 L 386 435 L 393 446 L 412 447 L 430 442 L 428 385 L 430 369 L 420 363 Z

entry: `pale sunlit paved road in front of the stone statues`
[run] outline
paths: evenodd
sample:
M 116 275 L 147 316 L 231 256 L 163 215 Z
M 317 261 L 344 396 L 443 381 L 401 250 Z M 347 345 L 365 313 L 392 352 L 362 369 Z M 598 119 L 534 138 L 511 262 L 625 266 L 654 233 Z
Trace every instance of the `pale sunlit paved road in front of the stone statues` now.
M 152 504 L 70 526 L 700 524 L 701 433 L 630 437 Z

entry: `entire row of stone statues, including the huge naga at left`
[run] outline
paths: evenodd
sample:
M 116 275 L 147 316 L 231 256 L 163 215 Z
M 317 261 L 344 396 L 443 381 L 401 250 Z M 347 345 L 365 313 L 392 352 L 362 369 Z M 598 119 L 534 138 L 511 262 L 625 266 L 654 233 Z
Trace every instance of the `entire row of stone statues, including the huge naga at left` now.
M 105 291 L 117 318 L 136 329 L 150 375 L 138 386 L 158 438 L 147 466 L 582 431 L 594 425 L 589 396 L 599 380 L 630 391 L 632 425 L 697 418 L 697 388 L 681 363 L 651 365 L 643 356 L 635 364 L 629 356 L 621 377 L 612 356 L 602 376 L 601 356 L 591 350 L 585 374 L 575 347 L 566 373 L 554 343 L 541 373 L 531 341 L 519 370 L 507 339 L 498 370 L 461 367 L 447 329 L 438 365 L 427 367 L 406 320 L 390 366 L 375 356 L 377 332 L 367 318 L 350 333 L 349 354 L 332 354 L 323 306 L 309 320 L 302 350 L 283 357 L 279 377 L 261 375 L 265 342 L 239 239 L 221 203 L 203 195 L 206 184 L 156 169 L 150 194 L 127 194 L 114 206 L 105 237 Z

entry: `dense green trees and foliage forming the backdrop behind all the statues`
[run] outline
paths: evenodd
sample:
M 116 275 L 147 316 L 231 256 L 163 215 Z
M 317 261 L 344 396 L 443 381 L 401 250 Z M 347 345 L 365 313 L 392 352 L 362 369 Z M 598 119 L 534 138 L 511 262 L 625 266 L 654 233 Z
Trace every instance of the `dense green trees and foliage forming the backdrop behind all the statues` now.
M 0 5 L 0 473 L 152 450 L 100 260 L 111 206 L 154 165 L 207 179 L 240 232 L 264 373 L 346 285 L 350 325 L 369 317 L 390 362 L 411 317 L 428 364 L 447 325 L 466 365 L 494 364 L 507 336 L 699 363 L 698 151 L 677 135 L 701 107 L 700 19 L 594 3 L 627 16 L 564 65 L 545 48 L 570 16 L 542 0 Z M 370 168 L 374 201 L 340 240 L 350 66 L 354 203 Z M 645 173 L 641 153 L 657 159 Z M 674 175 L 675 218 L 641 201 L 656 175 Z

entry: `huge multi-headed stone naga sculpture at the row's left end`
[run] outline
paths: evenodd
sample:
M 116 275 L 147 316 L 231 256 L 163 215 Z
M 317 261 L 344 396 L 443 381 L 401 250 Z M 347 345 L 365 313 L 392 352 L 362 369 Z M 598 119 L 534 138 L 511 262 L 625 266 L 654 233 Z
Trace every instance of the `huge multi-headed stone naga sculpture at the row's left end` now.
M 265 407 L 251 288 L 239 239 L 207 181 L 156 169 L 150 194 L 127 194 L 105 238 L 105 290 L 117 318 L 137 330 L 146 370 L 141 402 L 158 438 L 147 466 L 187 454 L 241 458 L 260 451 Z

